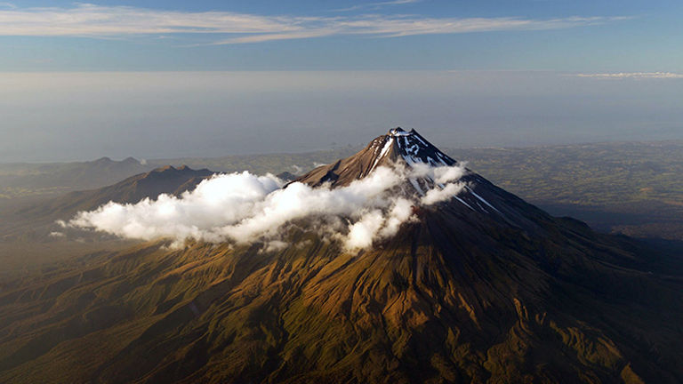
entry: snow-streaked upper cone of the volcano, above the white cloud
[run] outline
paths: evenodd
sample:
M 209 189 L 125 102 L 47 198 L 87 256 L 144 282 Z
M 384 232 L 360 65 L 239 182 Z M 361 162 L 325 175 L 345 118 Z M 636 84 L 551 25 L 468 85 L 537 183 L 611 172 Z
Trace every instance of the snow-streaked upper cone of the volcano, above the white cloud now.
M 327 184 L 332 188 L 342 188 L 350 186 L 355 180 L 366 178 L 380 166 L 405 168 L 406 180 L 400 189 L 415 201 L 427 198 L 430 191 L 433 191 L 432 196 L 446 196 L 449 191 L 454 191 L 446 200 L 439 201 L 444 201 L 449 209 L 458 214 L 477 212 L 515 227 L 535 227 L 526 219 L 528 204 L 522 204 L 518 197 L 464 168 L 462 163 L 446 155 L 415 130 L 406 132 L 398 127 L 393 128 L 372 140 L 357 154 L 319 166 L 294 181 L 312 187 Z M 422 174 L 425 166 L 434 174 Z M 451 170 L 454 174 L 460 174 L 447 183 L 434 177 L 436 172 L 446 172 L 448 170 L 443 168 L 449 167 L 454 168 Z M 447 188 L 448 184 L 458 184 L 459 188 Z

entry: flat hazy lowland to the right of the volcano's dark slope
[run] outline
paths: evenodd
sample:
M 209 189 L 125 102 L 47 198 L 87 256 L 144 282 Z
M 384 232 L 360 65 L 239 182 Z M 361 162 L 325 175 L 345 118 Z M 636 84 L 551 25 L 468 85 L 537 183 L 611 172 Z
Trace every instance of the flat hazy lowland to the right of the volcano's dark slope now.
M 683 142 L 456 149 L 470 168 L 601 231 L 683 239 Z

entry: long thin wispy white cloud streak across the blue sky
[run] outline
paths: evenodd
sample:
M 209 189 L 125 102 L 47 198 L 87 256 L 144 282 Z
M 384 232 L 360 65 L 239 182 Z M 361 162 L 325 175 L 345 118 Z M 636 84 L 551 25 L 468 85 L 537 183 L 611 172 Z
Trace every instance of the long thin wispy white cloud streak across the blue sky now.
M 406 4 L 397 0 L 376 4 Z M 628 17 L 430 18 L 416 15 L 340 17 L 265 16 L 237 12 L 181 12 L 77 4 L 72 8 L 0 10 L 0 36 L 206 36 L 206 44 L 247 44 L 323 36 L 396 37 L 599 25 Z M 234 35 L 225 38 L 224 35 Z

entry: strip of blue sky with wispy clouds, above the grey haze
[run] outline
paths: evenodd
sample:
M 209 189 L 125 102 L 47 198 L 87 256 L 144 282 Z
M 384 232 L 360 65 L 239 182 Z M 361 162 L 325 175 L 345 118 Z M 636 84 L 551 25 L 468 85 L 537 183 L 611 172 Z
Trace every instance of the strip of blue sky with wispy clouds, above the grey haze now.
M 0 71 L 683 71 L 683 2 L 0 2 Z

